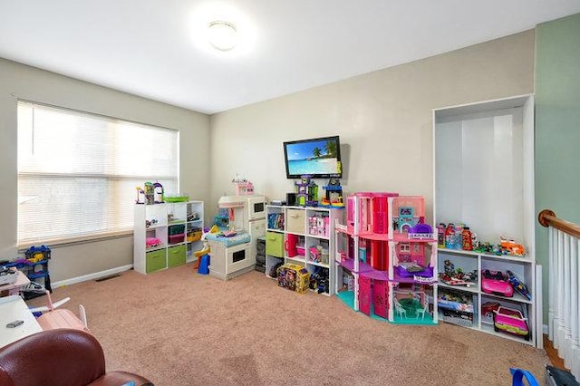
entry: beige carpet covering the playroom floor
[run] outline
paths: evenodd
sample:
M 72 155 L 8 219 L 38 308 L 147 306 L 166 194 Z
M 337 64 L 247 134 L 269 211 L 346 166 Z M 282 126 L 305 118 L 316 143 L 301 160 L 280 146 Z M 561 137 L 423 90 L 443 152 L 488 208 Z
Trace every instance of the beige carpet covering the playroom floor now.
M 222 282 L 191 265 L 57 288 L 87 310 L 109 370 L 156 385 L 510 385 L 544 383 L 546 353 L 449 323 L 393 325 L 335 296 L 295 294 L 251 272 Z M 34 299 L 31 304 L 40 304 Z

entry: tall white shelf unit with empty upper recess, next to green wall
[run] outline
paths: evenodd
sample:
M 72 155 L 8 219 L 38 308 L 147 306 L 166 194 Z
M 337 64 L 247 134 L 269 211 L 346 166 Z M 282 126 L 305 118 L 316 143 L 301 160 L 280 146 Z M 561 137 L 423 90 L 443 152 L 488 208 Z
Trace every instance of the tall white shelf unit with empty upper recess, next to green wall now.
M 441 307 L 440 319 L 541 348 L 541 266 L 536 265 L 534 251 L 533 96 L 434 110 L 433 139 L 435 223 L 465 224 L 478 241 L 491 245 L 499 244 L 501 236 L 513 238 L 527 252 L 526 256 L 497 256 L 440 248 L 440 272 L 446 261 L 464 272 L 477 270 L 470 286 L 440 281 L 440 295 L 463 299 L 469 309 L 463 315 L 469 315 L 469 320 L 461 321 L 457 313 L 444 314 Z M 486 270 L 511 271 L 527 286 L 530 299 L 516 291 L 513 296 L 483 291 Z M 498 329 L 491 317 L 492 305 L 519 311 L 527 318 L 529 335 Z

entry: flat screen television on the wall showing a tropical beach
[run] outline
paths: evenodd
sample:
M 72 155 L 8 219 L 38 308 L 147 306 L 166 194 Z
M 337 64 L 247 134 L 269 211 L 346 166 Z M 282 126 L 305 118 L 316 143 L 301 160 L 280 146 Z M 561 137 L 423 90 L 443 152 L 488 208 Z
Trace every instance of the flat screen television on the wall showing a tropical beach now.
M 284 159 L 288 179 L 300 179 L 304 175 L 312 179 L 343 177 L 341 142 L 337 135 L 284 142 Z

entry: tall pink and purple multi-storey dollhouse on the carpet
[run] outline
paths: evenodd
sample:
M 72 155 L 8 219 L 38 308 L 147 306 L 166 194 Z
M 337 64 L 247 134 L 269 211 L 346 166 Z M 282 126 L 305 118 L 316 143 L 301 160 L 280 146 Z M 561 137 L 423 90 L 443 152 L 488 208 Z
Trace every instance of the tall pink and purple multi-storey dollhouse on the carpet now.
M 436 304 L 426 314 L 436 285 L 437 241 L 424 224 L 424 198 L 354 193 L 346 217 L 346 226 L 336 229 L 347 246 L 336 260 L 353 275 L 353 308 L 392 323 L 437 323 Z

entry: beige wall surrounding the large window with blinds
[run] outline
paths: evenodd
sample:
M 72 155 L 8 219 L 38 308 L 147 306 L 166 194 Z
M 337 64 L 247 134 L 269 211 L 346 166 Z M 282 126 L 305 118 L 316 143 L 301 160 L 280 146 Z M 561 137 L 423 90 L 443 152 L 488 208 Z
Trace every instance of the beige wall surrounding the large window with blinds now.
M 0 259 L 16 256 L 16 101 L 49 103 L 179 130 L 180 189 L 209 199 L 209 118 L 168 104 L 117 92 L 0 59 Z M 131 205 L 131 203 L 129 203 Z M 133 262 L 132 236 L 53 248 L 53 282 Z

